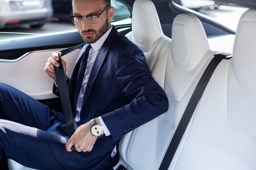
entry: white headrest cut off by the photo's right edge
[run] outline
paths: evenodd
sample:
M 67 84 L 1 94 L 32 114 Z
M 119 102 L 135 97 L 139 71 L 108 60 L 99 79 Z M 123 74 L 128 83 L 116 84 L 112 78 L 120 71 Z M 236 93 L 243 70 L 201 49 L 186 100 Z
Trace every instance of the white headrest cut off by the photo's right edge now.
M 256 10 L 242 14 L 235 35 L 233 60 L 239 84 L 256 92 Z

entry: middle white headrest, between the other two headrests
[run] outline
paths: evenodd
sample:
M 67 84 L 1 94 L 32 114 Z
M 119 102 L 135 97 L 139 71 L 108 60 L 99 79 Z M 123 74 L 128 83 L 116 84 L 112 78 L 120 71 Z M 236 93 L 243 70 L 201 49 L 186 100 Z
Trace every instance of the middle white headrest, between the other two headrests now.
M 193 70 L 210 48 L 201 21 L 191 14 L 174 18 L 171 37 L 174 64 L 186 71 Z

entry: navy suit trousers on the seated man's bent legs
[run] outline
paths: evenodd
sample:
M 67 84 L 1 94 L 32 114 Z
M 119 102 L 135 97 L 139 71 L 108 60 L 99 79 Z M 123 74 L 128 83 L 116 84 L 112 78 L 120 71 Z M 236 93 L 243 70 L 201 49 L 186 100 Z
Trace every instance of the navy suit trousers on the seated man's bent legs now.
M 104 169 L 111 152 L 102 153 L 101 162 L 93 161 L 99 160 L 99 156 L 98 159 L 93 156 L 97 152 L 93 149 L 92 153 L 67 152 L 68 137 L 58 130 L 61 124 L 65 127 L 62 113 L 0 83 L 0 159 L 6 154 L 34 169 Z M 56 129 L 56 125 L 60 126 Z M 53 131 L 49 132 L 50 129 Z M 59 150 L 59 155 L 53 154 L 53 147 Z M 61 157 L 63 162 L 56 157 Z

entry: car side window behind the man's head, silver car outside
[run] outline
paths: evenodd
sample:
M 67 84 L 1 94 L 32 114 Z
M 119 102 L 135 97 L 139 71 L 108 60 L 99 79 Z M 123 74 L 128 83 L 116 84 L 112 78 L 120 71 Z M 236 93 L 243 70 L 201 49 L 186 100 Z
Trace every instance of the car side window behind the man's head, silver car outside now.
M 114 7 L 112 24 L 131 24 L 132 14 L 127 6 L 116 0 L 111 0 L 111 4 Z M 0 8 L 1 40 L 28 36 L 24 33 L 48 34 L 76 30 L 69 18 L 72 0 L 21 0 L 13 3 L 1 1 Z M 31 8 L 33 15 L 30 13 Z

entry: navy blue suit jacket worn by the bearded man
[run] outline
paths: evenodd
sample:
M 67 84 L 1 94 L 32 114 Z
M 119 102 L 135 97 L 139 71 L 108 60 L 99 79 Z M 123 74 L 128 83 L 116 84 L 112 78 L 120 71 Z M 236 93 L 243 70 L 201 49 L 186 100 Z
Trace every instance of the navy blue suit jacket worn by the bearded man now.
M 70 98 L 73 94 L 70 89 Z M 101 115 L 111 135 L 95 146 L 111 152 L 120 137 L 167 109 L 166 94 L 151 76 L 144 53 L 113 27 L 92 67 L 78 125 Z

